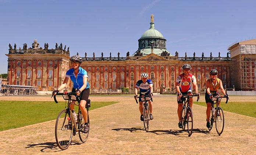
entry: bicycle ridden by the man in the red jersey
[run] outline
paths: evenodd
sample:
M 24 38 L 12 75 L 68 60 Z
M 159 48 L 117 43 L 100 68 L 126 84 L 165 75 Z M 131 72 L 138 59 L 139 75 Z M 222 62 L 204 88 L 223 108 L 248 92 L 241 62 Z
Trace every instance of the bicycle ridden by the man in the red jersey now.
M 183 102 L 183 108 L 182 108 L 182 130 L 184 131 L 186 126 L 188 129 L 188 136 L 190 137 L 192 132 L 193 132 L 193 113 L 192 109 L 189 104 L 189 98 L 197 96 L 198 99 L 196 102 L 199 100 L 198 95 L 182 95 L 181 100 Z

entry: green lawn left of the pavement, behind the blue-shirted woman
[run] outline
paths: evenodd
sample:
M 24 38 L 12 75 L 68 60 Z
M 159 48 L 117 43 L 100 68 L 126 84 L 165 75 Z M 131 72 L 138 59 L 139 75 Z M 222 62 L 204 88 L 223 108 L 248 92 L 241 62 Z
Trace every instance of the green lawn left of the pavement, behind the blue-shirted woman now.
M 118 102 L 91 102 L 89 111 L 114 103 Z M 65 102 L 0 100 L 0 131 L 55 120 L 64 108 Z M 75 106 L 75 111 L 78 111 L 78 106 Z

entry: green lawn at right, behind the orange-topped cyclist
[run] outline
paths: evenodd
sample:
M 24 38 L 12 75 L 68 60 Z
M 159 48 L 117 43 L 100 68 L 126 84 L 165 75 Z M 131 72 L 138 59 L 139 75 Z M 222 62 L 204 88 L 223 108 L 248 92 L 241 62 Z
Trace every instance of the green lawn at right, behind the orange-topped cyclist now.
M 193 102 L 193 104 L 198 104 L 200 106 L 205 106 L 205 102 Z M 249 117 L 256 118 L 256 108 L 255 108 L 256 102 L 228 102 L 225 104 L 225 102 L 220 103 L 220 107 L 224 111 L 233 112 L 236 114 L 246 115 Z

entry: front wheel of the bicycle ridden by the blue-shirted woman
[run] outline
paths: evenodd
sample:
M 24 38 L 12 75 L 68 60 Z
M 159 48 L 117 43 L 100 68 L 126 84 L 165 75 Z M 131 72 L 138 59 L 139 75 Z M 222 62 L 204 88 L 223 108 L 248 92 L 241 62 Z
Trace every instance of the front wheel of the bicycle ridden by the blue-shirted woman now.
M 68 116 L 67 109 L 64 109 L 58 114 L 55 124 L 55 139 L 61 150 L 66 150 L 70 145 L 72 133 L 72 122 Z

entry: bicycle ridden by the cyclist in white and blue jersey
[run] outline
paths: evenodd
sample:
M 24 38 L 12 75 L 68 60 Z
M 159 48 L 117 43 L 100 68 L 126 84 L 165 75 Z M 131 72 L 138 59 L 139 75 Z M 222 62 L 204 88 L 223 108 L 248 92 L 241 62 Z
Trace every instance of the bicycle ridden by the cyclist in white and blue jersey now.
M 147 100 L 149 97 L 149 99 L 153 102 L 152 97 L 150 95 L 142 95 L 142 96 L 138 96 L 138 98 L 142 98 L 143 100 L 143 124 L 145 127 L 146 132 L 149 132 L 149 120 L 150 120 L 150 111 L 149 111 L 149 103 Z M 136 99 L 136 103 L 138 104 L 138 100 Z

